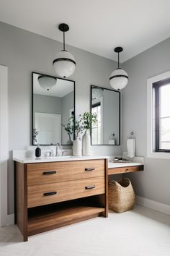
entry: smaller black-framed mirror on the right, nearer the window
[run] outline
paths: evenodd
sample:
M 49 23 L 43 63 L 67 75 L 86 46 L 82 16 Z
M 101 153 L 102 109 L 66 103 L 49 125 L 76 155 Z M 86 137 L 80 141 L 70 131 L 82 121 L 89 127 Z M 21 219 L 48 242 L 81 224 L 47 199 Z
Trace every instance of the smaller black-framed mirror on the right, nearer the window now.
M 120 92 L 91 85 L 91 145 L 120 145 Z

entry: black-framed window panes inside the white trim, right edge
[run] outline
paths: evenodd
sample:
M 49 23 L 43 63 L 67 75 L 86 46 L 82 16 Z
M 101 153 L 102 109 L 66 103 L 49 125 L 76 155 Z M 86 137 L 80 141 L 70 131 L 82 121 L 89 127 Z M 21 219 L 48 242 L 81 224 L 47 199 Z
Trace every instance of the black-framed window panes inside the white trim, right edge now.
M 153 83 L 153 125 L 155 151 L 170 152 L 170 78 Z

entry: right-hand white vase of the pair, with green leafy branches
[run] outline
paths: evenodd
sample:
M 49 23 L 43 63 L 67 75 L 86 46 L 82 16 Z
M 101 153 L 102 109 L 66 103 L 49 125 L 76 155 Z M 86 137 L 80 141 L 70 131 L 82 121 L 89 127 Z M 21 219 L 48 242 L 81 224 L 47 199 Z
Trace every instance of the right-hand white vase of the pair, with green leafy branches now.
M 83 127 L 85 130 L 82 142 L 83 142 L 83 155 L 91 155 L 91 138 L 89 130 L 91 126 L 97 124 L 97 114 L 84 112 L 83 114 Z

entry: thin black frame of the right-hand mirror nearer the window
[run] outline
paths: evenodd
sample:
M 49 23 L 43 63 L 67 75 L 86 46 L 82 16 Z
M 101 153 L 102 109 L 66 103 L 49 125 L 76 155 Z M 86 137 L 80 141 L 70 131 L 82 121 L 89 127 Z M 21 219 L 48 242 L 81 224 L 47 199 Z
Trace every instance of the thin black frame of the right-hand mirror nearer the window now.
M 90 90 L 90 113 L 92 110 L 92 89 L 93 88 L 100 88 L 100 89 L 104 89 L 104 90 L 112 90 L 112 89 L 108 89 L 108 88 L 104 88 L 98 85 L 91 85 L 91 90 Z M 116 145 L 109 145 L 109 144 L 92 144 L 92 136 L 91 136 L 91 145 L 92 146 L 120 146 L 120 90 L 112 90 L 113 92 L 119 93 L 119 144 Z M 90 135 L 91 135 L 91 129 L 90 129 Z

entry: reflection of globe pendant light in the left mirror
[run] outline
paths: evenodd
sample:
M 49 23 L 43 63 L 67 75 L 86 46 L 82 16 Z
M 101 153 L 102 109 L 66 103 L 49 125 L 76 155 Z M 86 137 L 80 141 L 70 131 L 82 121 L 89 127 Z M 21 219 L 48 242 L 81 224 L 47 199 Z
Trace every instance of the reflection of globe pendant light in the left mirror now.
M 50 77 L 48 75 L 42 74 L 37 78 L 40 87 L 44 90 L 50 90 L 54 85 L 56 85 L 57 78 Z

